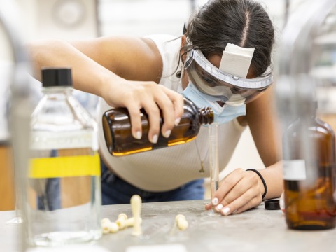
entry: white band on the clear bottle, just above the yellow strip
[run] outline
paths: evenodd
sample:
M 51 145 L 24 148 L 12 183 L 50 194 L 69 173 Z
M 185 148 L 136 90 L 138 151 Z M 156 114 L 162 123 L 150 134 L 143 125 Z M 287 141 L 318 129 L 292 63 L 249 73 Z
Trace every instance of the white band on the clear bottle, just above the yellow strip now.
M 97 132 L 79 130 L 74 132 L 31 132 L 32 150 L 63 148 L 92 148 L 98 150 Z

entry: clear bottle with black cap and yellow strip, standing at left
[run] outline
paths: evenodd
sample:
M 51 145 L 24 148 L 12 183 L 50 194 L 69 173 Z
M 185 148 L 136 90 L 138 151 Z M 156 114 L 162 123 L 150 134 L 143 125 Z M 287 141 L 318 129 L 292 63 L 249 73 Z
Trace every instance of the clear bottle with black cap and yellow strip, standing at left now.
M 71 69 L 42 69 L 31 116 L 27 241 L 58 246 L 102 236 L 97 123 L 72 94 Z

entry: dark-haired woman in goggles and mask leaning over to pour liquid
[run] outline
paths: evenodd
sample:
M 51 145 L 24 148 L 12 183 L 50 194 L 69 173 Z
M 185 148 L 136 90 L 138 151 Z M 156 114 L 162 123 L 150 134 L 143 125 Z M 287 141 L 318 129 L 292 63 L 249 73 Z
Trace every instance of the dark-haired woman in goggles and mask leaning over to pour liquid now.
M 70 66 L 76 89 L 102 97 L 97 121 L 103 204 L 129 203 L 134 194 L 144 202 L 202 199 L 203 178 L 209 176 L 207 127 L 187 144 L 113 157 L 102 130 L 102 113 L 111 106 L 130 111 L 137 139 L 142 134 L 139 110 L 144 108 L 151 124 L 148 139 L 153 143 L 160 133 L 169 137 L 179 123 L 183 95 L 197 106 L 211 106 L 219 123 L 220 169 L 228 164 L 248 125 L 267 168 L 235 169 L 221 181 L 206 209 L 214 206 L 228 215 L 279 197 L 283 188 L 281 145 L 269 87 L 273 43 L 274 28 L 260 3 L 213 0 L 190 18 L 179 38 L 38 41 L 29 50 L 37 71 L 42 66 Z M 161 128 L 160 110 L 165 120 Z

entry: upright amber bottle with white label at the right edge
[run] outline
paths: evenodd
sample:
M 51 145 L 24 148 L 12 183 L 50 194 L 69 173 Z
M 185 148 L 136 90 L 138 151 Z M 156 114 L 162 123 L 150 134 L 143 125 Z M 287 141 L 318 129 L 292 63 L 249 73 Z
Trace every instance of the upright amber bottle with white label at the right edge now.
M 288 228 L 335 228 L 335 134 L 316 117 L 317 102 L 307 116 L 288 127 L 283 141 L 285 214 Z

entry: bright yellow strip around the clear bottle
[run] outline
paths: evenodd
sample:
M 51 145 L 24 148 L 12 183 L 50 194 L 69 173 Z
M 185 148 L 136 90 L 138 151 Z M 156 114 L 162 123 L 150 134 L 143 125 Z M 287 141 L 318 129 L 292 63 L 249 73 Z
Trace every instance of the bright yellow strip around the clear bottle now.
M 99 155 L 32 158 L 28 176 L 33 179 L 100 176 Z

